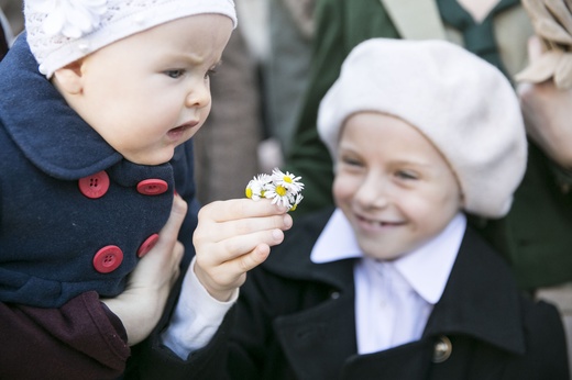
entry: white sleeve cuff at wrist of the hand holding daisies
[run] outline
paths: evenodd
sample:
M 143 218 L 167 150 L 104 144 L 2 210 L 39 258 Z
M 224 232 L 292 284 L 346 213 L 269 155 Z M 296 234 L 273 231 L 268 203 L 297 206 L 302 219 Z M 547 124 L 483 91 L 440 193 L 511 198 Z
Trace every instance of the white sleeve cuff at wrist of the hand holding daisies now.
M 195 275 L 195 261 L 193 258 L 170 324 L 162 334 L 163 344 L 184 360 L 210 342 L 239 298 L 239 289 L 227 302 L 212 298 Z

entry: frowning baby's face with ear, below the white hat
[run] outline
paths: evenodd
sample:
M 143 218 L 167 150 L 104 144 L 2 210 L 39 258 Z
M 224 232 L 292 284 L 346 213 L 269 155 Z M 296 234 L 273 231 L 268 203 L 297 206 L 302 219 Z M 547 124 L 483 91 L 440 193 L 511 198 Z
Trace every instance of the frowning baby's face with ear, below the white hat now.
M 231 32 L 229 18 L 200 14 L 120 40 L 81 62 L 80 91 L 66 99 L 128 160 L 166 163 L 210 112 L 209 76 Z

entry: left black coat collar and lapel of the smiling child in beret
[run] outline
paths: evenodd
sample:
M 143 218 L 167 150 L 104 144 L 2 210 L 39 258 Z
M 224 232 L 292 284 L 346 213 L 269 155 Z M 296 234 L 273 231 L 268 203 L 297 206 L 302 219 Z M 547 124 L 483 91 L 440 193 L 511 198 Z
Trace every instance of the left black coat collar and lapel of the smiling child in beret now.
M 314 264 L 309 252 L 333 209 L 297 221 L 263 266 L 300 283 L 323 284 L 331 290 L 314 308 L 276 318 L 274 327 L 288 361 L 300 379 L 339 378 L 348 357 L 358 351 L 355 340 L 353 259 Z M 282 252 L 284 247 L 296 247 Z

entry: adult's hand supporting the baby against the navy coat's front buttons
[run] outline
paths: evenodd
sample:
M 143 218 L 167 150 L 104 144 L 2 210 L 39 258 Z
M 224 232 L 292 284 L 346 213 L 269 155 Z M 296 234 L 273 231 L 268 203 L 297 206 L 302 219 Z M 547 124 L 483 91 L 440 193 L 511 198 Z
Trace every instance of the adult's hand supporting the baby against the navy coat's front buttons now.
M 123 293 L 101 300 L 123 323 L 130 346 L 142 342 L 155 327 L 179 276 L 185 248 L 177 236 L 186 213 L 187 203 L 175 195 L 169 220 L 156 245 L 141 258 Z

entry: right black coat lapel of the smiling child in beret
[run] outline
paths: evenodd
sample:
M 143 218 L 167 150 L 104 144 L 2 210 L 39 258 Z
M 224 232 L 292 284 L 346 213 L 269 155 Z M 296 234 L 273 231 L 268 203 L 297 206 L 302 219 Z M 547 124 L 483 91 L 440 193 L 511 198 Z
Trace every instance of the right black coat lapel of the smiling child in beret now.
M 524 354 L 519 293 L 512 278 L 502 258 L 468 228 L 424 336 L 464 334 L 513 354 Z

